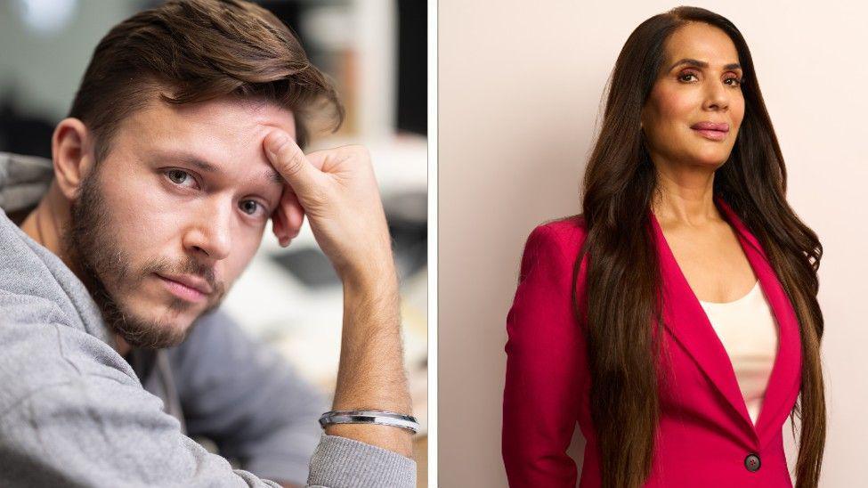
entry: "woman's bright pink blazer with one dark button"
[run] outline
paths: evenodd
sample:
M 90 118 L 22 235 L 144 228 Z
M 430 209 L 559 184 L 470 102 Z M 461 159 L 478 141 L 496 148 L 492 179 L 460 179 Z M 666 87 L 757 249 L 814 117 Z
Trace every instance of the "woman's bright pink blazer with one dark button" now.
M 722 199 L 718 207 L 775 314 L 778 350 L 754 426 L 732 362 L 677 265 L 651 214 L 661 262 L 664 345 L 671 367 L 661 374 L 661 420 L 648 487 L 791 487 L 783 424 L 799 394 L 801 348 L 791 303 L 758 240 Z M 587 443 L 580 486 L 600 484 L 582 324 L 572 313 L 572 264 L 585 239 L 580 216 L 539 225 L 524 248 L 515 300 L 507 314 L 503 460 L 513 487 L 576 484 L 565 454 L 578 422 Z M 587 259 L 578 285 L 584 291 Z

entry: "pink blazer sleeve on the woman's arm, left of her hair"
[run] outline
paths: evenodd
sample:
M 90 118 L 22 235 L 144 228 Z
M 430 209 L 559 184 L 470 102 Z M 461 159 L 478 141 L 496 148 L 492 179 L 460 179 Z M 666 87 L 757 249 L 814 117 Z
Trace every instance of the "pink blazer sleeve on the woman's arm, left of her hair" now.
M 512 487 L 576 485 L 566 450 L 587 374 L 584 340 L 572 311 L 574 236 L 546 225 L 528 237 L 507 313 L 502 453 Z

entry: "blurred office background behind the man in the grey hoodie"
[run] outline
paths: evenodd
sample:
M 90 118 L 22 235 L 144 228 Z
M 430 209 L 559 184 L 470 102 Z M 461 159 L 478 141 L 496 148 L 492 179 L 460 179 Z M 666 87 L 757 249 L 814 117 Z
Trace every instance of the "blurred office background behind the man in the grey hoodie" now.
M 93 48 L 134 12 L 158 1 L 0 2 L 0 151 L 51 158 L 53 128 L 66 117 Z M 402 281 L 402 319 L 426 480 L 427 168 L 426 2 L 283 0 L 256 2 L 301 37 L 314 64 L 335 79 L 347 109 L 337 134 L 312 149 L 368 147 Z M 337 376 L 342 290 L 306 219 L 289 248 L 270 228 L 223 308 L 279 348 L 330 395 Z

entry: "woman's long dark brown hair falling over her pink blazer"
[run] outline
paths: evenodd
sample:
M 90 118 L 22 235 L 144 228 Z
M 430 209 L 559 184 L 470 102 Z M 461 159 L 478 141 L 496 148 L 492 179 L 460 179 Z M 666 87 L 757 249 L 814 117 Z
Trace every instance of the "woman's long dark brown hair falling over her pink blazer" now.
M 587 254 L 587 292 L 579 297 L 573 289 L 573 304 L 587 323 L 591 415 L 603 486 L 641 486 L 651 473 L 660 417 L 661 274 L 648 216 L 657 180 L 639 113 L 665 61 L 664 42 L 690 21 L 726 32 L 742 64 L 744 118 L 729 159 L 716 172 L 714 193 L 766 250 L 799 319 L 801 386 L 790 414 L 801 422 L 796 486 L 815 487 L 826 431 L 823 315 L 816 300 L 823 247 L 786 201 L 783 155 L 742 34 L 714 12 L 685 6 L 645 20 L 621 49 L 583 183 L 588 235 L 573 273 L 577 276 Z

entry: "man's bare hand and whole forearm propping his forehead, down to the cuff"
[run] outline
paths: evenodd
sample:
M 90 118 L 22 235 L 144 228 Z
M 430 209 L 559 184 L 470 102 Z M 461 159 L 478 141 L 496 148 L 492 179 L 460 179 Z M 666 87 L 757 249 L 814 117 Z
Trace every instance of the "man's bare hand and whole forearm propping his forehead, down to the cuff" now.
M 344 327 L 332 408 L 410 414 L 398 277 L 368 151 L 345 146 L 305 156 L 280 130 L 265 137 L 264 147 L 272 166 L 288 182 L 277 219 L 282 222 L 275 222 L 281 244 L 295 237 L 308 216 L 313 236 L 344 284 Z M 343 424 L 327 427 L 326 434 L 413 455 L 410 432 L 399 427 Z

